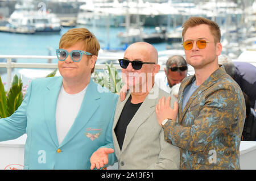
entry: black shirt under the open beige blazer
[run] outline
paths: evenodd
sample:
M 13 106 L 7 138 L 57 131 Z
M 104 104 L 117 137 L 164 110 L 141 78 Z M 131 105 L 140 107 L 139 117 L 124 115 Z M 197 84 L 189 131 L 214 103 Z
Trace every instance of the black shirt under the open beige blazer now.
M 127 102 L 125 103 L 125 106 L 123 106 L 123 110 L 121 112 L 117 125 L 115 126 L 115 129 L 114 129 L 115 135 L 117 136 L 117 141 L 118 141 L 120 150 L 122 150 L 123 140 L 125 139 L 127 125 L 129 125 L 131 119 L 133 119 L 133 116 L 138 111 L 141 104 L 142 103 L 138 103 L 138 104 L 131 103 L 131 96 L 130 96 Z

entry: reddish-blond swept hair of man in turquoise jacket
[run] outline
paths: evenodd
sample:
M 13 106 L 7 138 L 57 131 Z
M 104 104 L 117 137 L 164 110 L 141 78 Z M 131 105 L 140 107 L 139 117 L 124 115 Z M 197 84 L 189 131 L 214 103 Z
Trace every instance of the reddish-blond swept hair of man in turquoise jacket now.
M 93 33 L 86 28 L 73 28 L 68 30 L 63 36 L 61 36 L 59 48 L 69 48 L 78 42 L 84 42 L 83 50 L 98 56 L 100 43 L 98 43 L 98 40 Z M 91 73 L 93 73 L 93 71 L 94 68 Z

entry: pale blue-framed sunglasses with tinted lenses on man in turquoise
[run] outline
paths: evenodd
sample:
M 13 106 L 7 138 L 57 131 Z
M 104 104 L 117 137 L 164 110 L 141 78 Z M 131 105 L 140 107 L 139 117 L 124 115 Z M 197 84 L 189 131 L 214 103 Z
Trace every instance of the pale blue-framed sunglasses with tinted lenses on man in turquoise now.
M 85 52 L 82 50 L 72 50 L 70 53 L 68 53 L 68 51 L 65 49 L 56 49 L 56 54 L 57 54 L 57 58 L 60 61 L 65 61 L 68 55 L 70 55 L 72 61 L 74 62 L 79 62 L 83 54 L 92 55 L 92 53 Z

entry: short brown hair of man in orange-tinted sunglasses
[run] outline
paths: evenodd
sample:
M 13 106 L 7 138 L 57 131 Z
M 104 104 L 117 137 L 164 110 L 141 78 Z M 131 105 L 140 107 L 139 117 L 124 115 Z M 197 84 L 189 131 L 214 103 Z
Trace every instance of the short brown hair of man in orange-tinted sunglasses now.
M 220 43 L 221 40 L 221 31 L 220 27 L 217 23 L 213 22 L 212 20 L 203 18 L 203 17 L 191 17 L 185 23 L 183 24 L 183 31 L 182 31 L 182 37 L 184 40 L 185 32 L 188 30 L 188 28 L 192 28 L 195 26 L 199 26 L 200 24 L 207 24 L 210 28 L 210 32 L 212 33 L 214 37 L 215 43 Z

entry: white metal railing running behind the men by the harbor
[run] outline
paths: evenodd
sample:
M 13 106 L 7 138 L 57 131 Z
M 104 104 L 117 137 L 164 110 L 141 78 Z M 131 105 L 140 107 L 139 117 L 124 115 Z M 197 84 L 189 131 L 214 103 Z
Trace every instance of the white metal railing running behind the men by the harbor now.
M 11 71 L 15 68 L 28 68 L 28 69 L 56 69 L 57 64 L 49 64 L 49 63 L 19 63 L 19 62 L 13 62 L 12 59 L 43 59 L 43 60 L 57 60 L 56 56 L 22 56 L 22 55 L 0 55 L 0 58 L 5 58 L 7 62 L 0 62 L 0 68 L 6 68 L 7 69 L 7 90 L 10 89 L 11 85 Z M 115 57 L 115 56 L 98 56 L 97 61 L 108 61 L 108 60 L 118 60 L 118 58 L 121 57 Z M 168 57 L 159 57 L 159 62 L 166 62 Z M 115 69 L 121 70 L 121 67 L 119 64 L 113 64 Z M 97 64 L 95 65 L 95 69 L 106 69 L 105 64 Z M 164 70 L 164 66 L 162 65 L 160 70 Z M 192 67 L 189 67 L 188 71 L 193 71 Z

